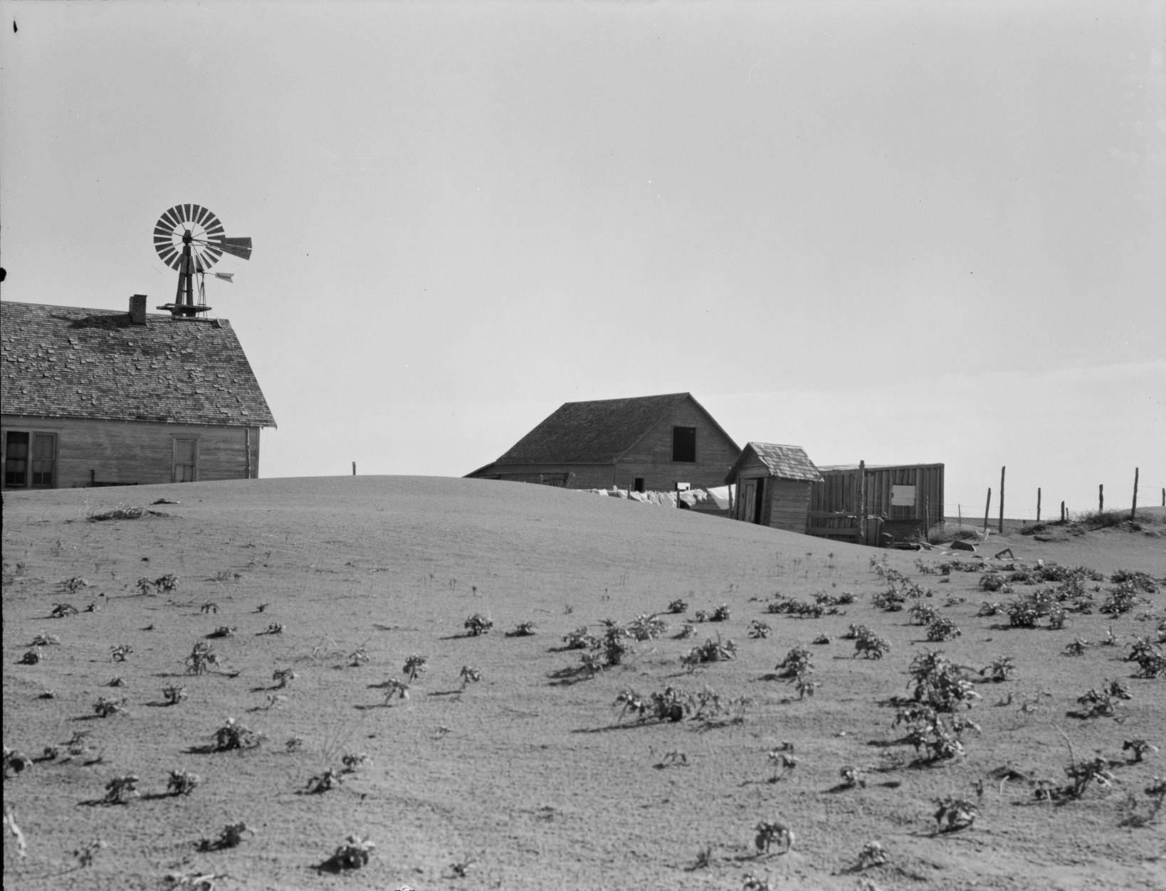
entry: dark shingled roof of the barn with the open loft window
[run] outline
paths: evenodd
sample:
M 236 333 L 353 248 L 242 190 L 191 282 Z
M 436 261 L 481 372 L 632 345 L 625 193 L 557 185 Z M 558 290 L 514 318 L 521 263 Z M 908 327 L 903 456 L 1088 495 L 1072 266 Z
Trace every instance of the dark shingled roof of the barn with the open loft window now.
M 493 465 L 611 464 L 684 400 L 691 400 L 721 429 L 691 393 L 564 402 Z

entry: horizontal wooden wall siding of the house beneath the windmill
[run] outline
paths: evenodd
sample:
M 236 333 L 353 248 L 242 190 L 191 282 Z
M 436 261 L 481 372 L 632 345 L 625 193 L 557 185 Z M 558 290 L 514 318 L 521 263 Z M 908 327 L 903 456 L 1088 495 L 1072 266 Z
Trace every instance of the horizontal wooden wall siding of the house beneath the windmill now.
M 259 476 L 259 427 L 211 427 L 5 415 L 2 430 L 51 433 L 57 437 L 56 487 L 93 483 L 169 483 L 174 441 L 196 440 L 198 480 Z M 7 436 L 0 435 L 6 447 Z M 248 454 L 250 448 L 250 454 Z

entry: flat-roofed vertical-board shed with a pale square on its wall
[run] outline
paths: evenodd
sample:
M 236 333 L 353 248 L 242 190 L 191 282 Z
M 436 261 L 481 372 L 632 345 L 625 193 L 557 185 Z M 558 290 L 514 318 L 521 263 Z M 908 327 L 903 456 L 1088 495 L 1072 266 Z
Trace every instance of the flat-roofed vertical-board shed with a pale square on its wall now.
M 810 489 L 812 535 L 887 545 L 943 521 L 942 464 L 838 464 Z

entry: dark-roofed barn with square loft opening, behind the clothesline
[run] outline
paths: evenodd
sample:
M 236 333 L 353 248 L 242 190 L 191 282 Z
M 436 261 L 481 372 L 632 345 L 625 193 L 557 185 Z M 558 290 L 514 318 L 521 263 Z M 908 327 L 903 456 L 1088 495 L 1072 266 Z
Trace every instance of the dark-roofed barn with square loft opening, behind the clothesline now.
M 568 489 L 704 489 L 722 485 L 739 454 L 691 393 L 668 393 L 566 402 L 466 476 Z

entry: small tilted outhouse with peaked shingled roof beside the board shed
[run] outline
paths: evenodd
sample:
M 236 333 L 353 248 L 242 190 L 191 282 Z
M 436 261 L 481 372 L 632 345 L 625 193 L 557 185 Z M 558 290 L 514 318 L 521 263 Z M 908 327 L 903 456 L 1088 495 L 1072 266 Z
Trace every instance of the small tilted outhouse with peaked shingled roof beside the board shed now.
M 731 515 L 735 520 L 803 533 L 810 486 L 821 478 L 800 445 L 750 442 L 725 477 L 737 487 Z

